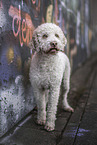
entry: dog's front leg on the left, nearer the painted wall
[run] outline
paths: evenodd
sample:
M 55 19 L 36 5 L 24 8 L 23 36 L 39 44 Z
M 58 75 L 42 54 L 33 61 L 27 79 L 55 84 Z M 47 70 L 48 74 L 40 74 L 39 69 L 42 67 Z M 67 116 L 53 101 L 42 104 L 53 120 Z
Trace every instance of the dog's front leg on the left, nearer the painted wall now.
M 37 123 L 40 125 L 44 125 L 46 122 L 45 92 L 41 89 L 34 89 L 34 96 L 38 108 Z

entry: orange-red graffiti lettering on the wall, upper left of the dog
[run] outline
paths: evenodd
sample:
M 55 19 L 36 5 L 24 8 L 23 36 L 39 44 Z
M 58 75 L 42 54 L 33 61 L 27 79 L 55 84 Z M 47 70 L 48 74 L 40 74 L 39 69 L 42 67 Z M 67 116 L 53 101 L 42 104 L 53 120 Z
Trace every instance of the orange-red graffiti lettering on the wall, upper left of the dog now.
M 28 45 L 29 41 L 32 39 L 32 33 L 34 26 L 29 14 L 22 12 L 23 20 L 21 19 L 21 7 L 19 9 L 10 6 L 9 15 L 13 18 L 12 29 L 15 37 L 19 36 L 19 41 L 21 47 L 23 43 Z

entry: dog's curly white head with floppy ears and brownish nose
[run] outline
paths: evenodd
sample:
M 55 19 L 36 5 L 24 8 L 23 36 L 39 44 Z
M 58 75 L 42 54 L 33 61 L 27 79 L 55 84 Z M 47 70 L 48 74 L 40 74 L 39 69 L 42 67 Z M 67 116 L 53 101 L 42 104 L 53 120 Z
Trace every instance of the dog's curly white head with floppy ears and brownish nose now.
M 52 23 L 45 23 L 33 32 L 29 47 L 36 52 L 56 54 L 58 51 L 64 51 L 67 40 L 61 28 Z

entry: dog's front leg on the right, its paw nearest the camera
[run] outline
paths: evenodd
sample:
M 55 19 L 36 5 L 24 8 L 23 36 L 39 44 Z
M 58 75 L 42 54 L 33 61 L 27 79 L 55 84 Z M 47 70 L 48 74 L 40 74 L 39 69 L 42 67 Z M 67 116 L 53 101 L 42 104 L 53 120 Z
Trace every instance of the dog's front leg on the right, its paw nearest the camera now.
M 48 96 L 48 108 L 47 108 L 47 120 L 45 129 L 47 131 L 53 131 L 55 128 L 56 111 L 59 99 L 59 87 L 50 90 Z

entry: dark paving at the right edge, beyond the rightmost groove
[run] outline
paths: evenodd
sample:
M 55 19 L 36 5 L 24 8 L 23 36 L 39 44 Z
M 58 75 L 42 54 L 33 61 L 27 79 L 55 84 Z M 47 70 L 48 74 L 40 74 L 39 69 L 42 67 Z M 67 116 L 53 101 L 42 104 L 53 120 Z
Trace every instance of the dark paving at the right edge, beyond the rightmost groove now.
M 83 136 L 76 137 L 75 145 L 96 145 L 97 144 L 97 71 L 92 90 L 85 108 L 85 113 L 80 124 L 85 132 Z M 82 134 L 78 130 L 78 134 Z

